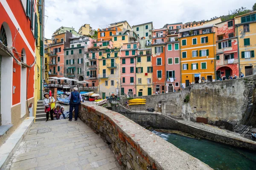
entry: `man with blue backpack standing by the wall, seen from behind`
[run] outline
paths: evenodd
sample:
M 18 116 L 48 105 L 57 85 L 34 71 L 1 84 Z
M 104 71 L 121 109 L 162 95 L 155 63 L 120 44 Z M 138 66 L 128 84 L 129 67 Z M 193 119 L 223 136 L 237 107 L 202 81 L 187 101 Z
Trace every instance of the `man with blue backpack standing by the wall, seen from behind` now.
M 68 98 L 70 99 L 69 121 L 72 121 L 72 119 L 73 119 L 73 108 L 75 108 L 75 121 L 77 121 L 79 105 L 81 104 L 81 100 L 82 100 L 82 96 L 78 92 L 77 87 L 74 87 L 73 91 L 70 93 Z

